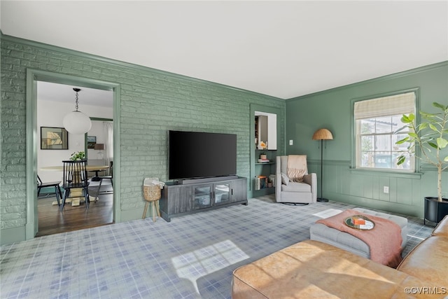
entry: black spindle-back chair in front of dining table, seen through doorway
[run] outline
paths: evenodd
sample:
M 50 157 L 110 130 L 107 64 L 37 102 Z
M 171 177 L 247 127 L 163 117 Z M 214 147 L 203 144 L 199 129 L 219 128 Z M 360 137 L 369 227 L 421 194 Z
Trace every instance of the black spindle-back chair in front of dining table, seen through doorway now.
M 65 200 L 70 197 L 85 198 L 85 209 L 89 209 L 89 181 L 87 179 L 86 164 L 87 160 L 65 160 L 63 164 L 63 181 L 62 188 L 64 188 L 64 196 L 62 197 L 61 211 L 64 210 Z M 73 189 L 81 191 L 81 195 L 71 195 Z

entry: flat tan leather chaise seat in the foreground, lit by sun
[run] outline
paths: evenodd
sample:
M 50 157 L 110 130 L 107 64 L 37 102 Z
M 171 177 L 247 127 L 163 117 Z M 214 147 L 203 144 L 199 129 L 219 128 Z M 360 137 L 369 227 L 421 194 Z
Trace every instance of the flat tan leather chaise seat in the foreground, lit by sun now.
M 405 289 L 411 287 L 428 282 L 307 240 L 235 270 L 232 298 L 409 298 Z

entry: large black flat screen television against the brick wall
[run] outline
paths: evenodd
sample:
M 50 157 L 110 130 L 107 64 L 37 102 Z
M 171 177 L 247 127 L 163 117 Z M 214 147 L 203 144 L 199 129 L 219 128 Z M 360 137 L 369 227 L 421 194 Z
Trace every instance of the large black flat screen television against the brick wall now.
M 237 174 L 237 135 L 169 131 L 169 179 Z

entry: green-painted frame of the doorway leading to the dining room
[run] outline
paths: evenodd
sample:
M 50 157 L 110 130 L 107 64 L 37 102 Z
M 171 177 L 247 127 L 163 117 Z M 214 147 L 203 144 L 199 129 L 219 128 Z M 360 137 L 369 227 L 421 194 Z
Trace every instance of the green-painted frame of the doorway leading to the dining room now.
M 37 182 L 36 176 L 38 173 L 38 151 L 37 148 L 40 148 L 38 145 L 40 144 L 40 139 L 38 138 L 38 131 L 40 127 L 38 126 L 38 115 L 37 115 L 37 106 L 38 106 L 38 83 L 57 83 L 62 85 L 68 85 L 68 88 L 79 87 L 83 88 L 92 88 L 97 90 L 109 90 L 112 93 L 113 103 L 113 119 L 120 119 L 120 111 L 118 107 L 120 106 L 120 85 L 116 83 L 109 83 L 105 81 L 97 81 L 89 78 L 81 78 L 76 76 L 67 76 L 63 74 L 55 74 L 47 71 L 38 71 L 33 69 L 27 70 L 27 224 L 26 224 L 26 239 L 33 239 L 38 236 L 39 232 L 39 219 L 38 219 L 38 200 L 37 200 Z M 71 91 L 73 94 L 73 90 Z M 72 105 L 74 107 L 74 95 L 69 97 Z M 80 97 L 80 103 L 82 98 Z M 83 106 L 87 108 L 87 104 L 80 104 L 80 111 L 83 111 Z M 85 110 L 85 109 L 84 109 Z M 57 111 L 54 111 L 57 113 Z M 63 117 L 63 116 L 62 116 Z M 62 127 L 62 126 L 61 126 Z M 119 123 L 113 122 L 113 148 L 119 148 L 119 140 L 120 140 L 120 130 Z M 84 144 L 84 136 L 83 138 L 83 148 L 85 149 Z M 70 141 L 70 139 L 69 139 Z M 74 141 L 74 146 L 81 146 L 79 141 Z M 71 151 L 71 150 L 70 150 Z M 120 202 L 120 151 L 119 149 L 114 151 L 115 155 L 113 157 L 114 160 L 114 192 L 110 197 L 110 207 L 109 209 L 112 211 L 109 214 L 108 220 L 109 223 L 120 222 L 120 209 L 116 202 Z M 65 157 L 67 159 L 69 157 Z M 59 158 L 58 158 L 59 159 Z M 63 160 L 64 160 L 63 159 Z M 59 159 L 60 160 L 60 159 Z M 60 161 L 59 161 L 60 162 Z M 60 180 L 60 179 L 59 179 Z M 57 206 L 56 206 L 57 207 Z M 79 210 L 83 209 L 83 214 L 89 214 L 88 211 L 85 211 L 85 207 L 78 207 Z M 68 218 L 65 214 L 62 214 L 60 211 L 56 212 L 57 216 L 61 216 L 62 218 Z M 90 213 L 93 214 L 93 213 Z M 93 215 L 88 215 L 93 216 Z M 79 217 L 78 217 L 79 218 Z M 83 221 L 83 218 L 80 219 L 81 223 L 76 225 L 78 229 L 83 229 L 87 227 L 97 226 L 94 221 L 89 223 L 90 221 Z M 84 222 L 84 223 L 83 223 Z M 90 225 L 90 226 L 89 226 Z M 57 226 L 63 227 L 64 225 L 58 224 Z M 54 233 L 61 232 L 55 230 Z M 70 229 L 71 230 L 71 229 Z

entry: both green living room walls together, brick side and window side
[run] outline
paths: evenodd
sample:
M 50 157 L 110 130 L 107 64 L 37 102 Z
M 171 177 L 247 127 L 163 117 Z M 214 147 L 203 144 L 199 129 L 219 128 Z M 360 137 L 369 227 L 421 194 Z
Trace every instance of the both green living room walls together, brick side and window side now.
M 120 219 L 138 219 L 145 177 L 167 180 L 167 131 L 237 134 L 237 173 L 251 177 L 254 153 L 251 106 L 280 111 L 278 153 L 305 153 L 320 170 L 318 141 L 327 127 L 335 137 L 324 148 L 324 193 L 330 200 L 416 216 L 435 193 L 435 173 L 361 172 L 351 169 L 351 100 L 420 88 L 421 109 L 448 104 L 448 62 L 284 101 L 195 78 L 4 36 L 1 39 L 0 244 L 25 239 L 27 224 L 27 69 L 116 83 L 120 88 Z M 286 121 L 285 121 L 286 120 Z M 286 141 L 293 139 L 293 146 Z M 253 167 L 253 166 L 252 166 Z M 444 177 L 444 183 L 447 177 Z M 390 193 L 382 193 L 383 186 Z M 252 183 L 248 179 L 248 196 Z M 381 192 L 380 192 L 381 191 Z M 447 193 L 445 189 L 445 193 Z

